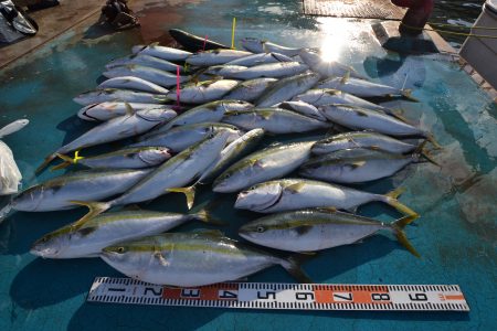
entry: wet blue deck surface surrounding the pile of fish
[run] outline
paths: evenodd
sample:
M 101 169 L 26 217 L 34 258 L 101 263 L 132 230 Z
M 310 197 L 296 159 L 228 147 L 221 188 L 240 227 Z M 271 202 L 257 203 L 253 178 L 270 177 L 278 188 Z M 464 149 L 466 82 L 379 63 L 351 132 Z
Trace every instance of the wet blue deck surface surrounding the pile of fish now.
M 145 12 L 163 8 L 148 7 Z M 86 303 L 96 276 L 119 274 L 99 259 L 43 260 L 29 254 L 43 234 L 77 220 L 83 210 L 17 213 L 0 224 L 0 330 L 495 330 L 497 306 L 497 125 L 496 107 L 474 82 L 450 62 L 400 57 L 383 51 L 370 22 L 306 18 L 298 1 L 209 1 L 168 7 L 163 28 L 180 28 L 230 43 L 266 38 L 292 45 L 322 47 L 329 58 L 352 65 L 377 82 L 414 89 L 421 103 L 395 102 L 404 116 L 435 135 L 444 146 L 433 153 L 442 164 L 411 166 L 391 179 L 361 186 L 371 192 L 406 188 L 401 201 L 421 217 L 406 229 L 421 253 L 416 259 L 388 233 L 360 245 L 329 249 L 305 265 L 318 282 L 457 284 L 469 313 L 241 311 L 175 307 Z M 159 15 L 160 17 L 160 15 Z M 160 23 L 159 23 L 160 22 Z M 142 29 L 147 29 L 144 26 Z M 31 124 L 6 138 L 24 175 L 24 185 L 57 175 L 33 170 L 57 147 L 92 127 L 75 113 L 77 94 L 96 85 L 104 65 L 142 42 L 137 30 L 102 35 L 81 26 L 0 72 L 0 126 L 18 118 Z M 147 41 L 150 40 L 148 35 Z M 161 35 L 156 39 L 161 40 Z M 163 39 L 162 39 L 163 40 Z M 118 145 L 116 145 L 118 146 Z M 84 154 L 84 153 L 83 153 Z M 256 215 L 232 209 L 234 195 L 202 191 L 199 202 L 219 199 L 216 216 L 235 229 Z M 170 194 L 147 207 L 184 211 L 183 197 Z M 381 204 L 363 215 L 391 221 L 399 214 Z M 198 227 L 191 224 L 180 231 Z M 250 277 L 253 281 L 293 281 L 278 267 Z

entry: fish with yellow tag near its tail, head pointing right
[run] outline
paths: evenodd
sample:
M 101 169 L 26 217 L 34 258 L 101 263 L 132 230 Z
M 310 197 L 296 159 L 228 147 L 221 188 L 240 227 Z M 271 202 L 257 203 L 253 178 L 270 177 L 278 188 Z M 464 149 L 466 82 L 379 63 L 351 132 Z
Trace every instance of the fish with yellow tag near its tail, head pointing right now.
M 83 164 L 93 169 L 141 169 L 156 167 L 171 158 L 171 151 L 166 147 L 147 146 L 124 148 L 95 157 L 71 158 L 57 154 L 64 162 L 52 170 L 64 169 L 71 164 Z

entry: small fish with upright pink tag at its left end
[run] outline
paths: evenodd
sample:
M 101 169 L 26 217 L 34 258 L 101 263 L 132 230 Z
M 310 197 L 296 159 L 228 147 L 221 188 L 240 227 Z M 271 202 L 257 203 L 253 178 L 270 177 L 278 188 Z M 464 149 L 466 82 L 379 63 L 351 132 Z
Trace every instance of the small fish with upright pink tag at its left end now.
M 237 81 L 215 79 L 204 81 L 198 84 L 186 84 L 180 89 L 180 102 L 184 104 L 205 104 L 221 99 L 225 94 L 232 90 Z M 177 90 L 170 90 L 167 94 L 169 100 L 177 100 Z

